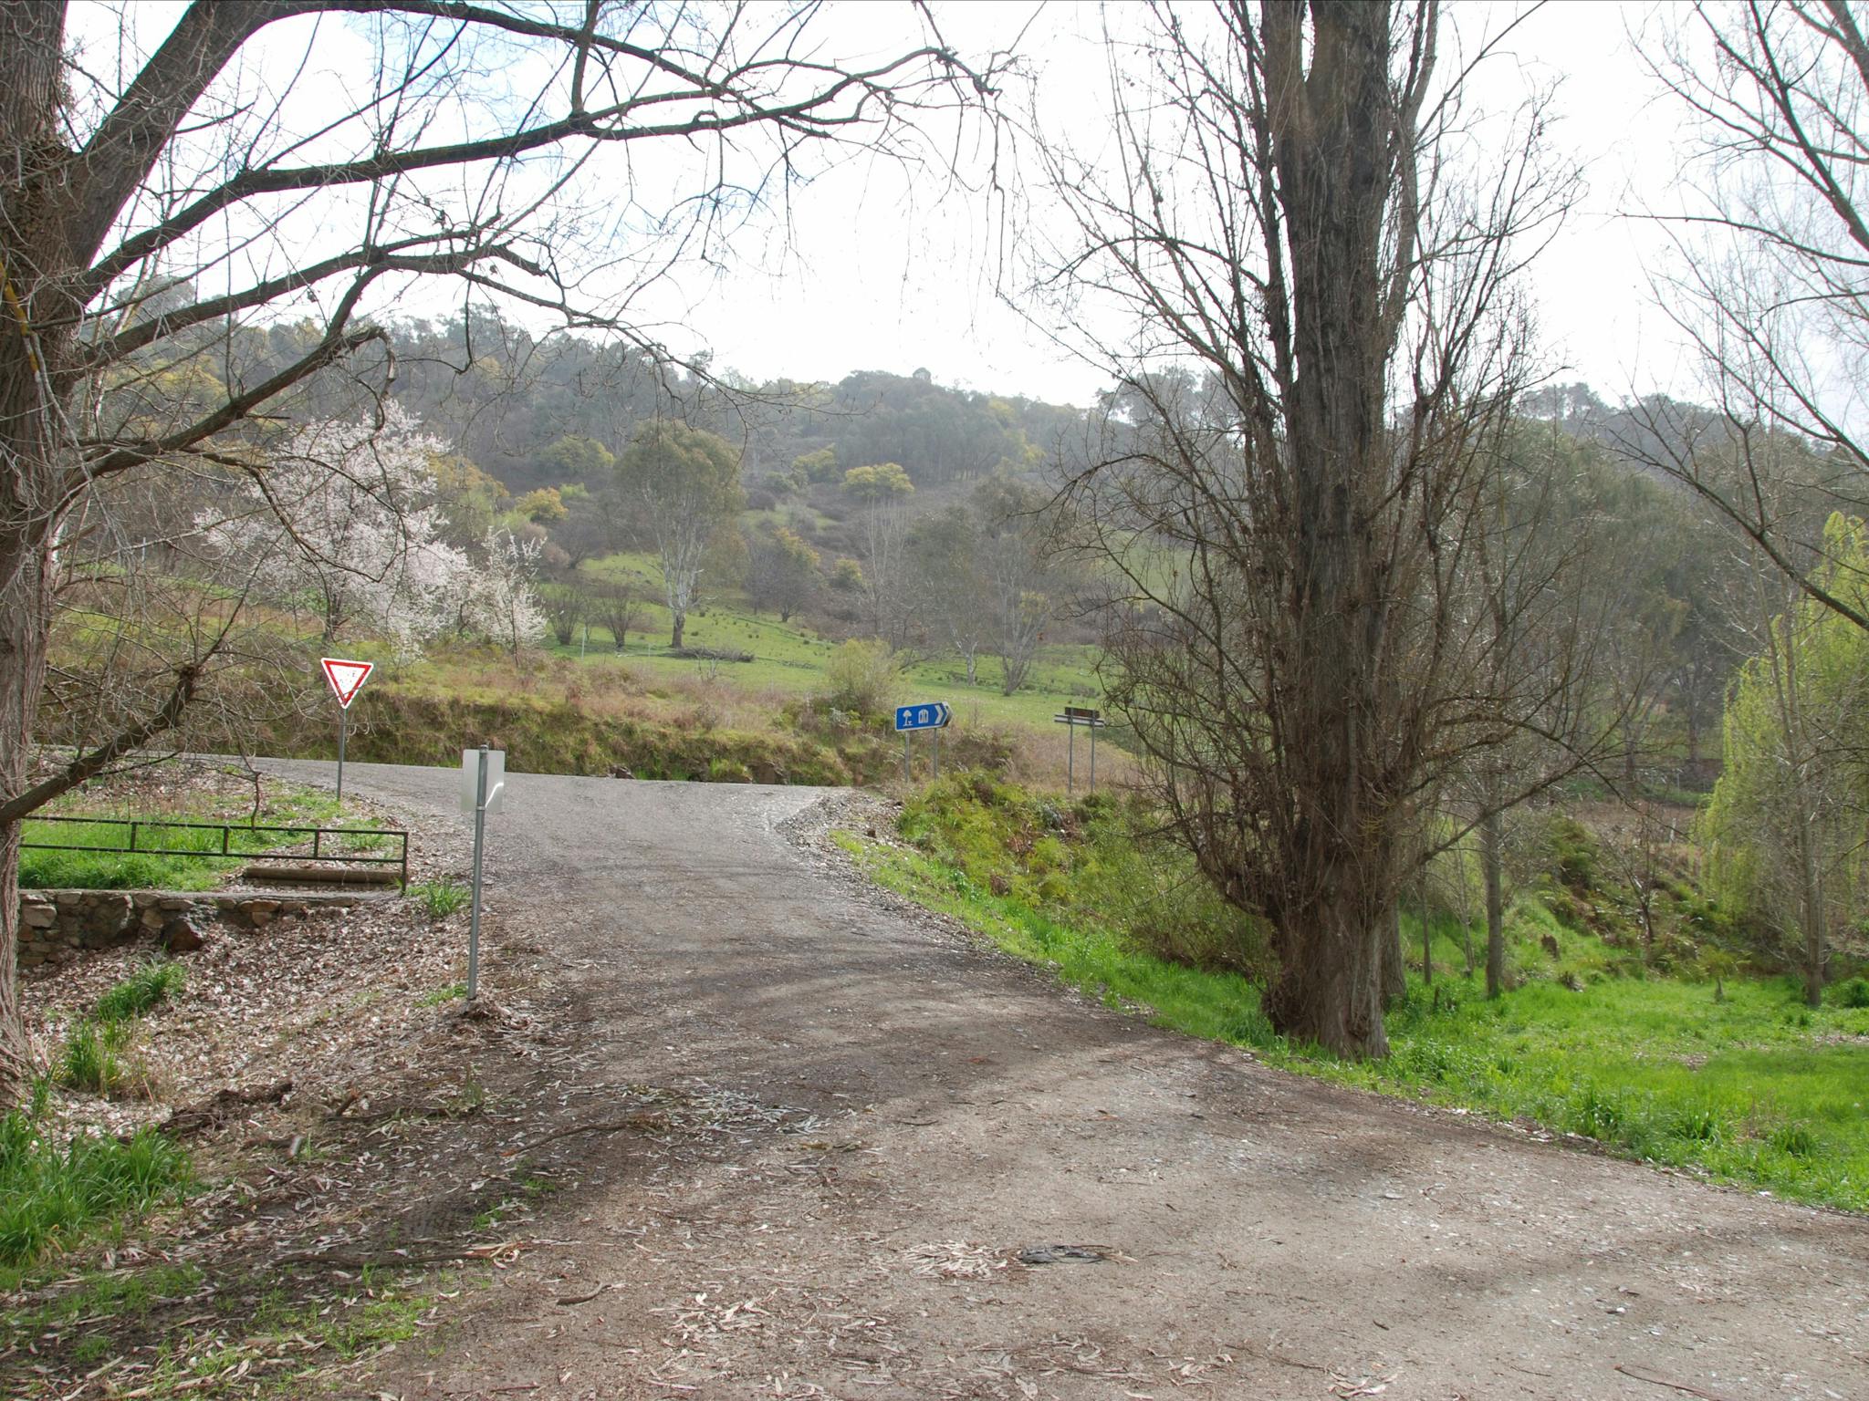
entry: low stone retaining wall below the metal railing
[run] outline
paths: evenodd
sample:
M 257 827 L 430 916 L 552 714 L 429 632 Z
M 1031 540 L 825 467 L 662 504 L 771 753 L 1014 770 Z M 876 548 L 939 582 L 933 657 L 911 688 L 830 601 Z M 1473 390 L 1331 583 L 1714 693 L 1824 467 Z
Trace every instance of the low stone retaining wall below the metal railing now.
M 265 928 L 275 919 L 303 917 L 312 910 L 350 910 L 359 899 L 368 897 L 267 897 L 252 891 L 21 891 L 19 966 L 62 962 L 82 949 L 108 949 L 144 934 L 176 943 L 183 925 L 198 936 L 202 925 L 215 919 L 241 928 Z M 200 947 L 200 940 L 187 947 Z

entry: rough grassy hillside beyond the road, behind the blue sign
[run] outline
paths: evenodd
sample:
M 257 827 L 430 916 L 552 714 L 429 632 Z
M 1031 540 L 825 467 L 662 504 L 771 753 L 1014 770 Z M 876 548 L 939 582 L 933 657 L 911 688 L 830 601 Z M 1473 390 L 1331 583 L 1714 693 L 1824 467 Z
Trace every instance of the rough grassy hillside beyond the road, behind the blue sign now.
M 594 577 L 639 575 L 643 557 L 602 560 Z M 970 686 L 959 659 L 914 659 L 869 714 L 834 710 L 822 697 L 841 639 L 792 620 L 755 615 L 744 601 L 690 613 L 686 652 L 667 641 L 667 609 L 645 605 L 641 630 L 619 652 L 596 624 L 570 646 L 553 643 L 514 665 L 490 650 L 437 650 L 413 663 L 385 661 L 351 712 L 350 755 L 361 760 L 454 764 L 464 747 L 506 749 L 508 768 L 535 773 L 628 773 L 639 779 L 850 785 L 899 779 L 903 745 L 892 708 L 946 700 L 953 725 L 942 762 L 983 766 L 1039 786 L 1065 786 L 1067 736 L 1052 723 L 1067 704 L 1095 704 L 1095 648 L 1049 644 L 1017 695 L 1000 693 L 1000 667 L 981 659 Z M 368 646 L 357 652 L 372 656 Z M 716 656 L 695 656 L 716 654 Z M 731 658 L 749 659 L 731 659 Z M 269 753 L 335 757 L 327 710 L 288 719 L 264 736 Z M 931 745 L 918 740 L 916 773 Z M 1120 736 L 1099 738 L 1099 777 L 1120 777 Z M 1077 736 L 1077 781 L 1088 749 Z

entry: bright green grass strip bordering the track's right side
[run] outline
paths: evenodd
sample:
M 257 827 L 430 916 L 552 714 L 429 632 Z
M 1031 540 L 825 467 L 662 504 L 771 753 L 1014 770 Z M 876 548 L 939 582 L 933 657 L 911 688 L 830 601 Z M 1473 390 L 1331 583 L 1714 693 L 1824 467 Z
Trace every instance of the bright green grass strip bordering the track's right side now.
M 1488 1001 L 1477 979 L 1454 971 L 1460 927 L 1437 919 L 1435 986 L 1411 975 L 1407 999 L 1389 1016 L 1389 1059 L 1336 1061 L 1275 1035 L 1243 973 L 1159 958 L 1121 928 L 1082 917 L 1082 857 L 1037 882 L 1030 869 L 1024 880 L 1002 878 L 994 893 L 968 870 L 966 824 L 953 807 L 942 829 L 921 809 L 920 831 L 916 803 L 905 811 L 905 835 L 927 850 L 839 841 L 880 884 L 1110 1007 L 1140 1005 L 1157 1026 L 1252 1046 L 1301 1074 L 1529 1119 L 1626 1156 L 1869 1210 L 1869 1009 L 1845 1007 L 1845 998 L 1807 1011 L 1792 979 L 1729 977 L 1725 999 L 1714 1001 L 1710 981 L 1619 977 L 1611 969 L 1626 968 L 1626 955 L 1561 927 L 1527 897 L 1508 928 L 1518 960 L 1544 977 Z M 1557 960 L 1538 947 L 1548 932 L 1559 938 Z M 1413 913 L 1404 947 L 1419 964 Z M 1559 981 L 1566 973 L 1581 990 Z

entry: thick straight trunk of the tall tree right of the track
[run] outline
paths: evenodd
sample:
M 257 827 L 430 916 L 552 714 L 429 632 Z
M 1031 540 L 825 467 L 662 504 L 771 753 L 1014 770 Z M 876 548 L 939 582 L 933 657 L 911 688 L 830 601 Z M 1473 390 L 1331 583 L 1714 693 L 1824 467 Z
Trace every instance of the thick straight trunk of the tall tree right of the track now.
M 1291 461 L 1288 656 L 1278 710 L 1295 814 L 1278 835 L 1284 900 L 1273 1026 L 1340 1055 L 1387 1055 L 1381 951 L 1392 938 L 1392 581 L 1385 435 L 1392 333 L 1379 327 L 1396 138 L 1387 6 L 1260 13 L 1267 123 L 1291 252 L 1291 366 L 1280 387 Z

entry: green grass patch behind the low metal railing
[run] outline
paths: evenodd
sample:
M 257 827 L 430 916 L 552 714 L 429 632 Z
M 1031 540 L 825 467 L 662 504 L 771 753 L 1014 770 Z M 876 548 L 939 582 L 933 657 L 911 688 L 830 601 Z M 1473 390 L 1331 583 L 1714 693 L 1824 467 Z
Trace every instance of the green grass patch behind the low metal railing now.
M 24 841 L 60 842 L 108 850 L 26 848 L 19 856 L 19 884 L 24 889 L 213 889 L 247 859 L 275 854 L 293 842 L 290 833 L 243 831 L 252 820 L 250 798 L 224 801 L 200 800 L 166 813 L 136 813 L 121 807 L 108 792 L 77 792 L 52 803 L 47 816 L 136 820 L 136 846 L 163 846 L 200 856 L 151 856 L 129 850 L 129 829 L 114 824 L 36 822 L 24 824 Z M 221 831 L 181 826 L 191 822 L 228 822 L 228 856 L 221 856 Z M 331 794 L 273 781 L 260 826 L 353 828 L 355 837 L 327 839 L 333 854 L 368 856 L 387 846 L 387 837 L 372 831 L 372 822 L 344 820 Z M 336 846 L 333 846 L 336 842 Z

